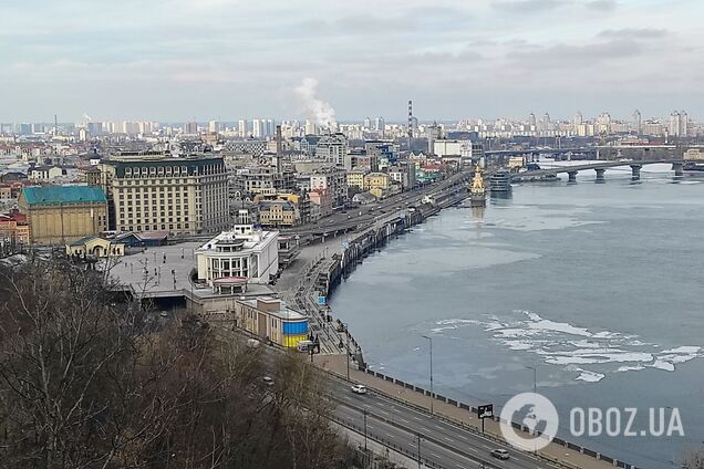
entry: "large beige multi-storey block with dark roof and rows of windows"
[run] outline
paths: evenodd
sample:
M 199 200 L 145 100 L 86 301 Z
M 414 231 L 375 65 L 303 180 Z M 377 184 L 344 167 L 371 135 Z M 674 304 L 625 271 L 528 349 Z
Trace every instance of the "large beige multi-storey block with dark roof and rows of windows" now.
M 221 157 L 122 153 L 99 166 L 113 230 L 198 234 L 229 226 L 227 170 Z

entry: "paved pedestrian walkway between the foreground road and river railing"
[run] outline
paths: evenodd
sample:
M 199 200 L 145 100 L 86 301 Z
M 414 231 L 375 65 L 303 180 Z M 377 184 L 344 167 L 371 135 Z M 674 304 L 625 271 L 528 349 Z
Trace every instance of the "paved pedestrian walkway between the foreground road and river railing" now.
M 315 364 L 340 377 L 344 378 L 346 376 L 346 357 L 344 355 L 319 355 L 315 356 Z M 413 389 L 407 389 L 401 385 L 366 374 L 356 368 L 350 371 L 350 379 L 355 383 L 364 384 L 370 389 L 375 389 L 393 399 L 401 400 L 412 406 L 422 407 L 429 411 L 429 396 L 424 396 Z M 453 406 L 439 399 L 434 400 L 433 410 L 441 417 L 447 418 L 463 426 L 472 427 L 476 431 L 480 431 L 482 421 L 477 418 L 476 414 L 473 414 L 472 411 Z M 489 438 L 503 440 L 499 425 L 494 420 L 485 420 L 485 434 Z M 546 460 L 553 461 L 570 469 L 613 468 L 612 463 L 598 460 L 555 442 L 539 450 L 538 455 Z

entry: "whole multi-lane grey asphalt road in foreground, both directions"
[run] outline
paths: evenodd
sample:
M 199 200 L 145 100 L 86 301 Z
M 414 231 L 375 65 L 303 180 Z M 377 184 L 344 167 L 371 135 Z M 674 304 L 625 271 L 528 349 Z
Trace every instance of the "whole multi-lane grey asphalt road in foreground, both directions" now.
M 339 403 L 335 410 L 339 420 L 363 429 L 366 411 L 367 435 L 404 448 L 414 458 L 417 458 L 420 434 L 422 459 L 442 468 L 469 469 L 480 463 L 507 469 L 558 467 L 372 390 L 356 395 L 344 381 L 331 379 L 330 392 Z M 510 459 L 493 458 L 490 452 L 497 448 L 508 450 Z

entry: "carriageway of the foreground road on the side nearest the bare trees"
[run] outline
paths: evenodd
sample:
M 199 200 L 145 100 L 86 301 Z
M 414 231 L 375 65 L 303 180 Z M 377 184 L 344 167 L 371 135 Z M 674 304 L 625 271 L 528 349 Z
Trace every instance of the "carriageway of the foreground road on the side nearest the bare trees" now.
M 355 410 L 350 409 L 344 406 L 340 406 L 338 411 L 335 413 L 339 418 L 343 420 L 351 421 L 355 427 L 363 429 L 364 421 L 363 415 Z M 403 448 L 405 451 L 408 451 L 414 459 L 417 459 L 418 455 L 418 437 L 416 434 L 405 431 L 401 428 L 394 427 L 391 424 L 386 424 L 383 420 L 377 420 L 373 417 L 367 416 L 366 418 L 366 435 L 370 437 L 377 437 L 385 441 L 389 441 L 393 446 L 397 448 Z M 475 451 L 469 448 L 468 451 L 472 454 Z M 474 456 L 474 455 L 473 455 Z M 453 468 L 453 469 L 474 469 L 480 468 L 482 461 L 486 461 L 489 463 L 494 463 L 489 454 L 476 455 L 479 460 L 475 460 L 472 457 L 467 457 L 453 451 L 444 446 L 439 446 L 434 441 L 429 441 L 421 435 L 421 458 L 425 461 L 431 461 L 437 466 L 443 468 Z M 510 459 L 508 460 L 510 461 Z M 514 469 L 510 465 L 496 465 L 501 468 Z

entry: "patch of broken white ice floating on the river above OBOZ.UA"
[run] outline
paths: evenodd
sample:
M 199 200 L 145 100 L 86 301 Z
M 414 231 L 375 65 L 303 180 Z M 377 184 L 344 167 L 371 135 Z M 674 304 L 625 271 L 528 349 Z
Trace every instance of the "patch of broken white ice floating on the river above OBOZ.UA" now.
M 487 315 L 483 320 L 437 321 L 433 333 L 475 326 L 511 351 L 532 353 L 549 365 L 573 373 L 574 379 L 598 383 L 613 373 L 646 368 L 674 372 L 676 365 L 704 357 L 701 346 L 665 348 L 633 334 L 591 331 L 557 322 L 529 311 L 515 311 L 518 319 Z M 587 369 L 589 368 L 589 369 Z

